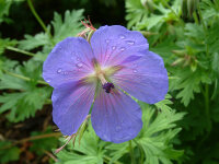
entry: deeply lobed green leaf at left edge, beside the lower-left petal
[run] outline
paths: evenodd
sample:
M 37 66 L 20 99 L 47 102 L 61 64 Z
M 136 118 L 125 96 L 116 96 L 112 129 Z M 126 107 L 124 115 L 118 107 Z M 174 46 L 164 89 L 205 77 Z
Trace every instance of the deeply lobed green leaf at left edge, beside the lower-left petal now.
M 16 67 L 13 74 L 27 77 L 26 81 L 11 74 L 3 74 L 0 79 L 0 90 L 14 90 L 0 96 L 0 113 L 10 110 L 10 121 L 21 121 L 33 117 L 37 109 L 42 109 L 44 103 L 50 95 L 50 87 L 38 87 L 37 80 L 42 79 L 42 65 L 34 60 L 24 62 L 24 66 Z

